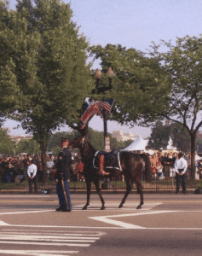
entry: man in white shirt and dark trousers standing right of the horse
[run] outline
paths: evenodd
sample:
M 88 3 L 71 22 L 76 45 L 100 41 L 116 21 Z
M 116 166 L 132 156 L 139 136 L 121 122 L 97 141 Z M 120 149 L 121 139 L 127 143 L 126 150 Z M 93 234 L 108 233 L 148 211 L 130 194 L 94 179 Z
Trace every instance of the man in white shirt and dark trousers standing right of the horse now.
M 188 162 L 184 159 L 184 155 L 180 153 L 178 159 L 175 161 L 175 171 L 176 171 L 176 194 L 178 194 L 180 189 L 180 180 L 182 179 L 182 192 L 186 194 L 186 171 L 188 169 Z

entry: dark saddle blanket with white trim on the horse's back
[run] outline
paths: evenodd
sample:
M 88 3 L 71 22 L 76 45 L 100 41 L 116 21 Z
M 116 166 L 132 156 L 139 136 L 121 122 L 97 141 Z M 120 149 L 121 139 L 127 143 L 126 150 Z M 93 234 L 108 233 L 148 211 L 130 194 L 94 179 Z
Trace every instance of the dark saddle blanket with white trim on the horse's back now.
M 114 149 L 113 151 L 107 153 L 105 151 L 97 151 L 95 153 L 94 159 L 93 159 L 93 166 L 95 169 L 99 169 L 99 160 L 100 155 L 104 156 L 104 169 L 117 169 L 119 171 L 122 171 L 121 165 L 120 165 L 120 158 L 119 158 L 119 152 Z

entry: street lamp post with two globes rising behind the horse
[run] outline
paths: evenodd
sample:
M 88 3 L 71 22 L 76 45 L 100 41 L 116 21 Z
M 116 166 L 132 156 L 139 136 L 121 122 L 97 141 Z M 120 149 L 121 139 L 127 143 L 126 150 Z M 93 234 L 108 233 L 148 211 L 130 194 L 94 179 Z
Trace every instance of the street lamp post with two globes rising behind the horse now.
M 112 80 L 115 74 L 113 73 L 112 67 L 109 67 L 107 70 L 107 79 L 109 79 L 109 86 L 101 86 L 100 80 L 101 80 L 101 71 L 97 68 L 95 71 L 95 79 L 96 79 L 96 89 L 97 89 L 97 94 L 101 94 L 102 92 L 106 90 L 111 90 L 113 88 L 112 86 Z M 104 100 L 104 98 L 103 98 Z M 104 145 L 105 145 L 105 151 L 110 151 L 110 139 L 107 134 L 107 112 L 105 109 L 102 111 L 102 116 L 103 116 L 103 122 L 104 122 Z

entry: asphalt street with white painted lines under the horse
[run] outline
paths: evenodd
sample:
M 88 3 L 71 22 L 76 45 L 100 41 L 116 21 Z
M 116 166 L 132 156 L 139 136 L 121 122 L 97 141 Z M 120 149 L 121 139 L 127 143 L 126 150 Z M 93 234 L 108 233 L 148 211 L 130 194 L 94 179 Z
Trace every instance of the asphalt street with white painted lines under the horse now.
M 57 195 L 0 195 L 0 255 L 201 255 L 202 195 L 72 195 L 72 212 L 56 212 Z

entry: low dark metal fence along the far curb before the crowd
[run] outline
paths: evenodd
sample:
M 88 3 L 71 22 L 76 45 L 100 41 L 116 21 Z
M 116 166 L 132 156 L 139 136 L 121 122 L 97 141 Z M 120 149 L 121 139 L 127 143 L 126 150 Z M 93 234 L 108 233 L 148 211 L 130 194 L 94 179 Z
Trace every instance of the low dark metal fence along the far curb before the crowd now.
M 198 170 L 194 173 L 194 179 L 191 176 L 191 173 L 187 173 L 187 189 L 188 191 L 193 191 L 196 188 L 202 188 L 202 178 L 201 173 Z M 144 193 L 174 193 L 176 190 L 176 173 L 173 170 L 170 170 L 169 175 L 156 174 L 153 177 L 153 181 L 148 183 L 142 177 L 141 185 L 143 187 Z M 51 191 L 51 193 L 56 193 L 55 191 L 56 183 L 38 183 L 38 194 L 49 194 L 44 191 Z M 70 181 L 69 187 L 72 193 L 85 193 L 86 192 L 86 183 L 83 181 Z M 124 193 L 126 189 L 126 183 L 123 181 L 123 177 L 120 177 L 117 180 L 100 180 L 100 188 L 103 192 L 107 193 Z M 48 190 L 49 189 L 49 190 Z M 95 185 L 91 185 L 92 191 L 95 191 Z M 0 183 L 0 193 L 29 193 L 29 183 L 28 181 L 24 183 Z M 133 183 L 132 193 L 136 193 L 136 183 Z

